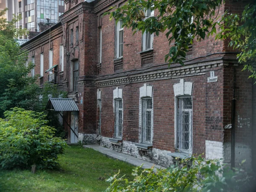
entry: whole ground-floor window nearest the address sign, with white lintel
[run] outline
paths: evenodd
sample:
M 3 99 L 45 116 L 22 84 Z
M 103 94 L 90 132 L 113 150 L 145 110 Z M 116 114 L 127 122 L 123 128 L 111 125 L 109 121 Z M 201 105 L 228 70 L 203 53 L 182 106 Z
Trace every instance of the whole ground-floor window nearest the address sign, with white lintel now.
M 175 94 L 175 148 L 178 151 L 192 153 L 192 82 L 174 84 Z

